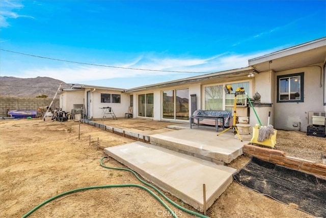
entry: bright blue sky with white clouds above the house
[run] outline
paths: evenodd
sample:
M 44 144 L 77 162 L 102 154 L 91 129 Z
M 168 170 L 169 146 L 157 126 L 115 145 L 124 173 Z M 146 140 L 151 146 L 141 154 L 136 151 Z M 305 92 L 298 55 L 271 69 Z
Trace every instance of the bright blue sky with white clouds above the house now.
M 1 76 L 66 83 L 138 87 L 246 67 L 248 59 L 326 36 L 325 0 L 0 4 Z

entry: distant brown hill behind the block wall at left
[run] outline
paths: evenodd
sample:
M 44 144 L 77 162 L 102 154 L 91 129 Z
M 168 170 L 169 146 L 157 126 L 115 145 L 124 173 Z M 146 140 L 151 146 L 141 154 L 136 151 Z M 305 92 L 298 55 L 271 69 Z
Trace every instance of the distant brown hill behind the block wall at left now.
M 47 98 L 53 98 L 60 83 L 62 83 L 62 88 L 71 87 L 71 84 L 50 77 L 0 77 L 0 95 L 35 98 L 45 94 Z M 59 98 L 59 95 L 57 95 L 57 98 Z

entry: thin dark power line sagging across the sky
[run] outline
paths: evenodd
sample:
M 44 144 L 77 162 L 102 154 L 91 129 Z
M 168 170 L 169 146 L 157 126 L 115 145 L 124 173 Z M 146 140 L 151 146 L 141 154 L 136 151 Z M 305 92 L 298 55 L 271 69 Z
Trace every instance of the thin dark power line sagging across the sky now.
M 43 56 L 38 56 L 38 55 L 25 54 L 25 53 L 14 52 L 14 51 L 5 50 L 5 49 L 0 49 L 0 50 L 5 51 L 5 52 L 11 52 L 11 53 L 19 54 L 19 55 L 32 56 L 32 57 L 36 57 L 36 58 L 44 58 L 44 59 L 49 59 L 49 60 L 76 63 L 76 64 L 85 64 L 85 65 L 92 65 L 92 66 L 102 66 L 102 67 L 111 67 L 111 68 L 120 68 L 120 69 L 132 69 L 132 70 L 145 70 L 145 71 L 158 71 L 158 72 L 185 72 L 185 73 L 192 73 L 192 74 L 208 74 L 208 72 L 143 69 L 143 68 L 122 67 L 122 66 L 109 66 L 109 65 L 102 65 L 102 64 L 91 64 L 91 63 L 85 63 L 85 62 L 69 61 L 69 60 L 63 60 L 63 59 L 57 59 L 57 58 L 48 58 L 48 57 L 43 57 Z

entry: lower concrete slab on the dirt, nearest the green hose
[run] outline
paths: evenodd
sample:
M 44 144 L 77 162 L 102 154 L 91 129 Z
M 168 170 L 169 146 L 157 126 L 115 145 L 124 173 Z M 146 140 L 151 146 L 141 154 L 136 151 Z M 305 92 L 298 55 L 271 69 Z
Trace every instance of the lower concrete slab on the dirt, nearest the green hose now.
M 208 209 L 231 184 L 236 172 L 231 167 L 140 141 L 108 147 L 104 152 L 199 211 L 203 211 L 203 184 Z

